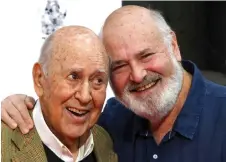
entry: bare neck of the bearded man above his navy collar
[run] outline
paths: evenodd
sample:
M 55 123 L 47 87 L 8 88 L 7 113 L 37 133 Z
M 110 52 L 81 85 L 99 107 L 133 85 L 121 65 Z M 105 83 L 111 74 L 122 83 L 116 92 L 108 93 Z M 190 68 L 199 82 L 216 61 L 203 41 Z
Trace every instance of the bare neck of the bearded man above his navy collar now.
M 163 137 L 173 128 L 175 120 L 179 115 L 186 98 L 188 96 L 188 92 L 191 87 L 192 76 L 188 72 L 184 71 L 184 79 L 182 89 L 179 93 L 177 102 L 173 107 L 172 111 L 160 122 L 155 124 L 150 124 L 150 128 L 152 130 L 152 134 L 157 144 L 160 144 Z M 151 126 L 152 125 L 152 126 Z

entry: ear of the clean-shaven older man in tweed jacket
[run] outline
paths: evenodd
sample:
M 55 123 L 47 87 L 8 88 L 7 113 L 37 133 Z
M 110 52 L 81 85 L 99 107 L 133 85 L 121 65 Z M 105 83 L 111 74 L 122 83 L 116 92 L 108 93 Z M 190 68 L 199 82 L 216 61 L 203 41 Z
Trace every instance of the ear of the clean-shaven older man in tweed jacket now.
M 39 63 L 35 63 L 32 70 L 34 88 L 37 96 L 41 97 L 44 94 L 45 75 Z

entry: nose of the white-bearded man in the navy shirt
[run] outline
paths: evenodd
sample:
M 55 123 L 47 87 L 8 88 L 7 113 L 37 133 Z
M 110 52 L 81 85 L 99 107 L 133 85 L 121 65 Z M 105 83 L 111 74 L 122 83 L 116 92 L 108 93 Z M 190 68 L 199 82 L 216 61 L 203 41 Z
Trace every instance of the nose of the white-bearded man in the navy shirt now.
M 146 75 L 147 75 L 147 72 L 143 67 L 133 66 L 131 68 L 130 80 L 135 83 L 140 83 L 143 81 L 143 79 Z

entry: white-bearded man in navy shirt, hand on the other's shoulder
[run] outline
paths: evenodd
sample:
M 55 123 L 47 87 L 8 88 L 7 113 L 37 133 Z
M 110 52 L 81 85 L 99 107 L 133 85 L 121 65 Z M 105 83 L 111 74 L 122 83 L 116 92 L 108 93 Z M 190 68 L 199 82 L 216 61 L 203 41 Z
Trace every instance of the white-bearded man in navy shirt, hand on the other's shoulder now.
M 226 162 L 226 87 L 182 61 L 160 13 L 122 7 L 107 18 L 101 37 L 117 100 L 108 101 L 99 124 L 113 138 L 119 161 Z M 3 101 L 9 125 L 24 123 L 24 98 Z

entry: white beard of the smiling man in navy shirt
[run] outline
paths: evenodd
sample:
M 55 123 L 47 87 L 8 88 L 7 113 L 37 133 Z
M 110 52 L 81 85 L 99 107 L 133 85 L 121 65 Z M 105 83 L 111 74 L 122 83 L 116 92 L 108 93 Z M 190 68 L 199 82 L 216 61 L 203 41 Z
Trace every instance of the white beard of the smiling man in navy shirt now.
M 161 79 L 162 83 L 160 84 L 164 85 L 162 90 L 156 91 L 152 96 L 137 98 L 132 96 L 128 91 L 128 87 L 126 87 L 122 100 L 119 98 L 118 100 L 135 114 L 148 120 L 161 120 L 164 118 L 176 104 L 183 84 L 183 68 L 174 55 L 171 55 L 171 59 L 174 65 L 174 74 L 170 78 Z

